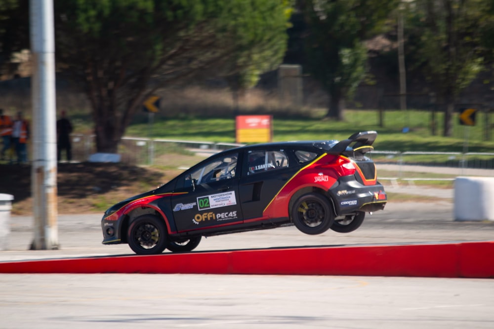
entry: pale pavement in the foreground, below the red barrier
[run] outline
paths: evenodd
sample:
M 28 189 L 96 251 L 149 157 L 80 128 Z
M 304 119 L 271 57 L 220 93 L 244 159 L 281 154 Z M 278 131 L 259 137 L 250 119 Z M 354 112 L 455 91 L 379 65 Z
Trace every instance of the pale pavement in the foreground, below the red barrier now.
M 494 280 L 0 275 L 3 329 L 492 329 Z

